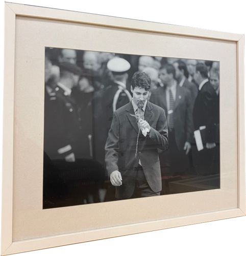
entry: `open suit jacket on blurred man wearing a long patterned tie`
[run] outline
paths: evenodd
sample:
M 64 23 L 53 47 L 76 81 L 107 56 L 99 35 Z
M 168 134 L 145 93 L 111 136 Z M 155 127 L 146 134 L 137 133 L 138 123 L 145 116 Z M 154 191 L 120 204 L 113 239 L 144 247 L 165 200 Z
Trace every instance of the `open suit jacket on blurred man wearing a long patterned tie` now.
M 165 110 L 167 116 L 166 89 L 160 87 L 151 94 L 150 101 Z M 192 105 L 189 90 L 177 85 L 174 109 L 175 140 L 179 150 L 183 150 L 186 141 L 192 140 Z

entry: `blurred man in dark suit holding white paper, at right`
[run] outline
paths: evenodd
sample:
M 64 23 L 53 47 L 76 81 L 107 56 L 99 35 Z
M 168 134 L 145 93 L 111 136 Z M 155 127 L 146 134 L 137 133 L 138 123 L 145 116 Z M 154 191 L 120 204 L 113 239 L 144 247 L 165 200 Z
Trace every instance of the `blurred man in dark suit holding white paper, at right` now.
M 212 160 L 216 146 L 217 95 L 209 82 L 205 64 L 196 65 L 194 79 L 199 84 L 199 93 L 194 102 L 193 124 L 194 130 L 201 133 L 203 144 L 202 150 L 194 150 L 194 167 L 199 175 L 208 175 L 212 173 Z

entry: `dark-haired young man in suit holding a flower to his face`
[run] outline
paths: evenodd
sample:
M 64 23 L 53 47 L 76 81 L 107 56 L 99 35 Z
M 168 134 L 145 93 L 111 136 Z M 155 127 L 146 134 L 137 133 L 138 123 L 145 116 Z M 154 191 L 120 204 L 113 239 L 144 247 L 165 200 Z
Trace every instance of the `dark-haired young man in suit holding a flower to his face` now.
M 168 146 L 165 112 L 147 101 L 151 79 L 134 73 L 133 99 L 114 112 L 105 146 L 105 162 L 117 199 L 159 196 L 161 172 L 158 150 Z

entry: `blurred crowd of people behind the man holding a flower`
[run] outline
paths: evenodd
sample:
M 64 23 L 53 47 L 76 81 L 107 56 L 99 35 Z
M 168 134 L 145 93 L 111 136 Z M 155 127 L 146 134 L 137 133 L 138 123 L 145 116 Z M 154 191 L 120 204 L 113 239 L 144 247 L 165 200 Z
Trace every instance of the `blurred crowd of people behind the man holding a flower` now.
M 66 197 L 69 184 L 84 193 L 72 204 L 109 200 L 105 144 L 114 111 L 132 100 L 136 71 L 149 75 L 148 101 L 165 111 L 163 180 L 219 174 L 219 62 L 45 48 L 47 207 Z

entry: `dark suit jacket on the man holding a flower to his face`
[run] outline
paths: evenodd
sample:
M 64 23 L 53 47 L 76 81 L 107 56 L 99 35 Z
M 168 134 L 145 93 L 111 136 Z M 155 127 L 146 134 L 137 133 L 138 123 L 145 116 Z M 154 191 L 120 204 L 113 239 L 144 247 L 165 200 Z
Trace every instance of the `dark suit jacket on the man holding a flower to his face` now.
M 147 102 L 144 119 L 150 124 L 151 130 L 146 137 L 140 133 L 136 158 L 138 126 L 136 118 L 131 115 L 135 115 L 131 102 L 114 112 L 105 146 L 108 175 L 119 170 L 122 176 L 122 185 L 116 186 L 116 198 L 132 196 L 139 158 L 151 189 L 155 192 L 161 191 L 158 148 L 166 150 L 168 146 L 165 112 L 159 106 Z

